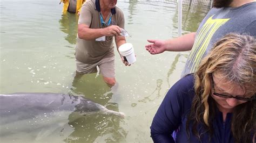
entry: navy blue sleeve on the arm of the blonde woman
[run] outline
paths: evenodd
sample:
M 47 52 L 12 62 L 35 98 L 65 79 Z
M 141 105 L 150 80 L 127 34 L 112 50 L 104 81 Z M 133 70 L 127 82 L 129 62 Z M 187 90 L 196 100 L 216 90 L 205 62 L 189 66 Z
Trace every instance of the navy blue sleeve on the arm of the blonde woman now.
M 191 77 L 185 76 L 167 92 L 150 127 L 154 142 L 175 142 L 172 133 L 181 124 L 181 116 L 186 110 L 184 104 L 190 101 L 187 94 L 190 90 L 188 87 L 193 85 L 187 86 L 188 84 L 193 82 L 191 83 Z

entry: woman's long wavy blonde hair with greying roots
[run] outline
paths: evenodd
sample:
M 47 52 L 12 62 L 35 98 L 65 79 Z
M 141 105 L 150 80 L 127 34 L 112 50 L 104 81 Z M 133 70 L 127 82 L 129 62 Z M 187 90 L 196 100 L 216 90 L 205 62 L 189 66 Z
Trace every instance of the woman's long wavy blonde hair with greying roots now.
M 200 139 L 196 130 L 203 123 L 206 132 L 212 134 L 212 120 L 217 106 L 212 94 L 213 73 L 218 73 L 225 80 L 240 85 L 246 94 L 256 91 L 256 40 L 250 35 L 230 33 L 220 39 L 212 51 L 201 61 L 194 74 L 196 96 L 192 103 L 187 121 L 193 122 L 192 131 Z M 232 117 L 232 133 L 235 142 L 251 142 L 251 132 L 255 131 L 255 101 L 248 101 L 235 107 Z

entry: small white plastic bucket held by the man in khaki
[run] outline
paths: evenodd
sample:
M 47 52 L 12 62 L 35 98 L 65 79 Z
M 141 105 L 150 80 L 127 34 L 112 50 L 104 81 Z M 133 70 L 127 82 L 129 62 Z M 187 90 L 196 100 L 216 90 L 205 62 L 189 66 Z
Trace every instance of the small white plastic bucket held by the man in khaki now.
M 128 63 L 134 63 L 136 57 L 131 43 L 125 43 L 118 48 L 119 53 L 124 56 Z

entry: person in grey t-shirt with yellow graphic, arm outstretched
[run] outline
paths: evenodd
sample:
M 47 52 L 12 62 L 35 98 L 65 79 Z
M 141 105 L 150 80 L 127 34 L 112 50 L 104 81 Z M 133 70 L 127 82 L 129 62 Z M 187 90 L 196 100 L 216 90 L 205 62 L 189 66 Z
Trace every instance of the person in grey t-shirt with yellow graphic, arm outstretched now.
M 147 40 L 150 54 L 164 51 L 190 51 L 181 76 L 194 73 L 213 44 L 227 33 L 256 37 L 256 2 L 253 0 L 214 0 L 213 8 L 200 23 L 197 32 L 176 39 Z

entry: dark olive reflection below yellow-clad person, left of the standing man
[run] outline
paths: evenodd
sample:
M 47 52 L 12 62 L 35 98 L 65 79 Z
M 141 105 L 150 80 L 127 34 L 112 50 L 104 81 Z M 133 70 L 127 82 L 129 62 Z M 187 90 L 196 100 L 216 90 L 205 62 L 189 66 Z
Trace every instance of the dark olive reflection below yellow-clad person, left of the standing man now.
M 59 19 L 60 30 L 66 35 L 65 40 L 75 45 L 77 42 L 77 23 L 79 16 L 76 13 L 63 13 L 62 19 Z

